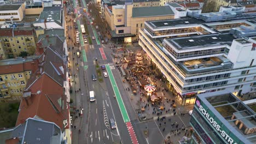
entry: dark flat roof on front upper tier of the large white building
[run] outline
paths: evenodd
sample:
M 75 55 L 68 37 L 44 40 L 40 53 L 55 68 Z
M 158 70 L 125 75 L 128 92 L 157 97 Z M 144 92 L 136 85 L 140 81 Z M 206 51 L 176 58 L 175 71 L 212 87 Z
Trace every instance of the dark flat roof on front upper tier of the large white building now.
M 209 34 L 196 35 L 192 37 L 165 39 L 167 43 L 172 44 L 176 49 L 190 49 L 191 47 L 206 47 L 214 45 L 230 45 L 236 39 L 231 34 Z

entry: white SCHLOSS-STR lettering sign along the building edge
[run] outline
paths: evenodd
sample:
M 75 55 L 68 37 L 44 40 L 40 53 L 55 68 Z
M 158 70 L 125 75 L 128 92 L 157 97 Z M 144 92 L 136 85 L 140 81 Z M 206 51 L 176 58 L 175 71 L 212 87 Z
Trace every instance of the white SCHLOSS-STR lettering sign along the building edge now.
M 203 106 L 200 104 L 199 100 L 196 100 L 196 105 L 199 107 L 199 110 L 207 118 L 207 120 L 213 125 L 213 127 L 219 131 L 220 135 L 224 137 L 226 141 L 228 141 L 230 144 L 237 144 L 224 130 L 222 130 L 222 127 L 213 119 L 213 117 L 210 116 L 210 114 L 203 108 Z

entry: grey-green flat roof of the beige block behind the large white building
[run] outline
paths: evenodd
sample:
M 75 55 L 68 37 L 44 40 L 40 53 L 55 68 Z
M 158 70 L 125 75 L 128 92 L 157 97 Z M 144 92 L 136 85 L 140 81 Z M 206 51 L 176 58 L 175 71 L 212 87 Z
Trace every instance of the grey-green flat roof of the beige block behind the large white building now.
M 172 9 L 169 6 L 132 8 L 132 17 L 150 17 L 166 15 L 174 15 Z

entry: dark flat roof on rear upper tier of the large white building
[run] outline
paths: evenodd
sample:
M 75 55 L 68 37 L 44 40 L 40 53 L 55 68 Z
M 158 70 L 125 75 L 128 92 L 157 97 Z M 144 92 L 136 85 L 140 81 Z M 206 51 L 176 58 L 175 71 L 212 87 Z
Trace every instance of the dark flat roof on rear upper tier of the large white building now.
M 146 21 L 146 23 L 148 23 L 148 25 L 151 26 L 152 28 L 162 28 L 162 27 L 174 27 L 174 26 L 191 25 L 191 24 L 201 24 L 205 22 L 195 18 L 186 18 L 186 19 Z

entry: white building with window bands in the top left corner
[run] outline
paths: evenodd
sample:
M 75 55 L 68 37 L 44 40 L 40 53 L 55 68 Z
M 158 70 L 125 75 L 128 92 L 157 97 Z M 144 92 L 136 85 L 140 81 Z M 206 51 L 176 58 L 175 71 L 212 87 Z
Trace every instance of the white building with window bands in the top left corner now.
M 22 21 L 24 11 L 24 4 L 0 5 L 0 21 Z

